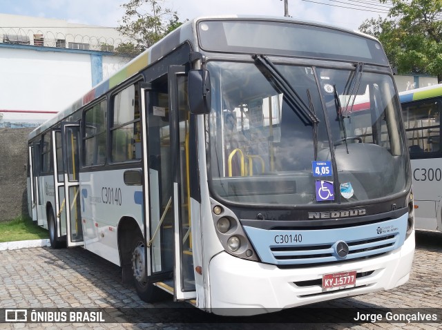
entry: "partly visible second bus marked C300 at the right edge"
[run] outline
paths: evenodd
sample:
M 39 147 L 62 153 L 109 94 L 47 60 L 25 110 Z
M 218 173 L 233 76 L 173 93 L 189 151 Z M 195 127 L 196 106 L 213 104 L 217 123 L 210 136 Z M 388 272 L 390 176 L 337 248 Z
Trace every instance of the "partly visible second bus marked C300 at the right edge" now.
M 410 149 L 416 229 L 442 231 L 442 85 L 399 93 Z

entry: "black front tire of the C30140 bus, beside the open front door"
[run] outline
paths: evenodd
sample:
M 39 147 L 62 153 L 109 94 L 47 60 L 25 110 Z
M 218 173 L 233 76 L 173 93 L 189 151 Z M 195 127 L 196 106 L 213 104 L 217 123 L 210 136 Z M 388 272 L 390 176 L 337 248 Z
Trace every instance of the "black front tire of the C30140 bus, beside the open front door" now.
M 145 302 L 158 302 L 170 298 L 171 295 L 169 293 L 147 282 L 147 272 L 144 270 L 144 252 L 142 253 L 142 251 L 144 251 L 144 240 L 141 233 L 137 233 L 133 237 L 129 258 L 133 283 L 138 296 Z

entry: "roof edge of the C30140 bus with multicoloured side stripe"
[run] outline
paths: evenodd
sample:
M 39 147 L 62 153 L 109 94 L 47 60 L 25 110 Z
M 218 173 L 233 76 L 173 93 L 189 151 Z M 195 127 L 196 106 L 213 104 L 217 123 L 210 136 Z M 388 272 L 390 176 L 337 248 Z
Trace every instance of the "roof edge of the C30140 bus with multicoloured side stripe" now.
M 126 79 L 135 76 L 138 72 L 144 70 L 144 68 L 146 68 L 149 64 L 152 64 L 153 62 L 157 61 L 158 59 L 166 55 L 168 52 L 171 52 L 173 49 L 180 46 L 185 41 L 187 40 L 195 41 L 196 31 L 194 29 L 194 26 L 196 22 L 201 19 L 260 19 L 262 21 L 267 21 L 267 20 L 289 21 L 293 23 L 301 23 L 301 24 L 305 23 L 314 26 L 335 28 L 336 30 L 350 32 L 356 35 L 360 35 L 361 37 L 366 37 L 368 39 L 376 40 L 376 38 L 370 35 L 365 35 L 363 32 L 360 31 L 348 30 L 338 26 L 325 25 L 324 23 L 320 23 L 317 21 L 300 20 L 291 17 L 271 17 L 271 16 L 252 16 L 252 15 L 222 15 L 222 16 L 196 17 L 195 19 L 187 21 L 176 30 L 173 30 L 173 32 L 169 33 L 169 35 L 167 35 L 160 41 L 157 41 L 157 43 L 155 43 L 153 46 L 151 46 L 150 48 L 142 52 L 140 55 L 129 61 L 128 64 L 126 64 L 117 72 L 115 72 L 111 77 L 97 84 L 97 86 L 93 87 L 91 90 L 88 91 L 88 93 L 80 97 L 73 104 L 71 104 L 64 110 L 61 110 L 59 113 L 57 113 L 57 115 L 48 119 L 48 121 L 44 122 L 39 127 L 35 128 L 35 130 L 32 130 L 32 132 L 30 132 L 28 136 L 28 139 L 32 139 L 33 137 L 39 135 L 40 133 L 44 132 L 51 126 L 57 124 L 57 122 L 75 113 L 75 111 L 78 110 L 79 108 L 86 106 L 86 104 L 104 95 L 111 88 L 114 88 L 115 86 L 121 84 L 123 81 L 126 81 Z M 193 50 L 198 51 L 197 43 L 193 43 Z

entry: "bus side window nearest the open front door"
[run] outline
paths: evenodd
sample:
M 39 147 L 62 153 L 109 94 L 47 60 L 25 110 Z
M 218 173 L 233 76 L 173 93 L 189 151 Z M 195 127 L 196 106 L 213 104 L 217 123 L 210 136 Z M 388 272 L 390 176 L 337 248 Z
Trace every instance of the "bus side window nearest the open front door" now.
M 138 85 L 131 85 L 113 98 L 112 162 L 141 159 Z

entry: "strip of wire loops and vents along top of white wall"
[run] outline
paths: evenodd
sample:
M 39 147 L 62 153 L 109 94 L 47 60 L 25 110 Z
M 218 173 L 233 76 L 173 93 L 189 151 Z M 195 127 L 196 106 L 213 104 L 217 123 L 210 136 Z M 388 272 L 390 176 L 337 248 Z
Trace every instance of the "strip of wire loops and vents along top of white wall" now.
M 117 32 L 115 32 L 117 33 Z M 0 43 L 30 45 L 38 47 L 70 48 L 80 50 L 97 50 L 113 52 L 120 43 L 129 40 L 113 37 L 95 37 L 90 35 L 74 35 L 41 30 L 25 30 L 23 28 L 0 28 Z

